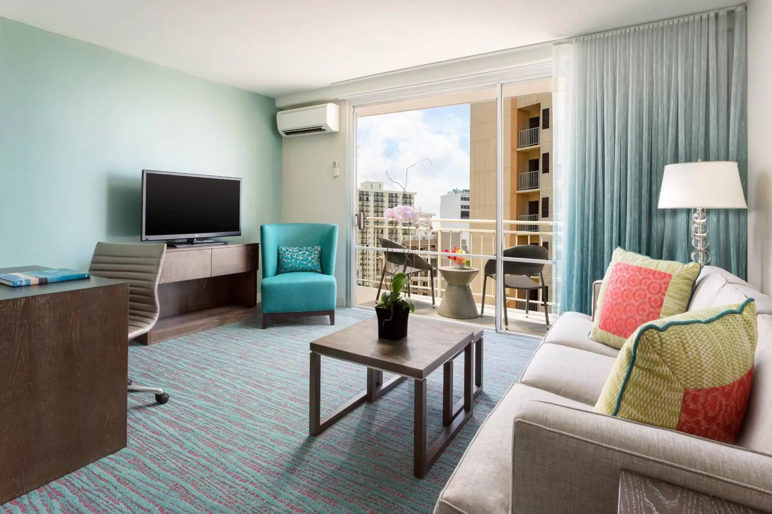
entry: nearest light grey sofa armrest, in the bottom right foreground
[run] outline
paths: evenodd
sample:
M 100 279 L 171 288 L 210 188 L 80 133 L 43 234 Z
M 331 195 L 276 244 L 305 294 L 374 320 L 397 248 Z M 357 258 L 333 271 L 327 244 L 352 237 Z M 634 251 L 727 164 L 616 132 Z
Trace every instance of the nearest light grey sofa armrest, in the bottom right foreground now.
M 523 405 L 512 452 L 513 514 L 617 512 L 621 469 L 772 511 L 772 455 L 564 405 Z

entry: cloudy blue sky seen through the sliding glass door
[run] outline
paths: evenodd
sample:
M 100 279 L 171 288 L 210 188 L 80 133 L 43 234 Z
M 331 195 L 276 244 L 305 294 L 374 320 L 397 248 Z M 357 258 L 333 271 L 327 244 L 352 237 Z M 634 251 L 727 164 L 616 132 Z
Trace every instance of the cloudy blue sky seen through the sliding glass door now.
M 357 185 L 366 180 L 400 190 L 386 176 L 417 193 L 416 207 L 439 215 L 439 198 L 454 188 L 469 188 L 469 104 L 357 120 Z

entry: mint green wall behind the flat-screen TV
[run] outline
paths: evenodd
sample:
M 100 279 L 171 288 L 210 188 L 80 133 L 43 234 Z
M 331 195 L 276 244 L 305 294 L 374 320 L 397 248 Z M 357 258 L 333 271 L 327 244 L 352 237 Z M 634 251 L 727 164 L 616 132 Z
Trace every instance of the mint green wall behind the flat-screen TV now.
M 139 241 L 141 170 L 242 177 L 242 237 L 281 221 L 273 99 L 0 18 L 0 267 Z

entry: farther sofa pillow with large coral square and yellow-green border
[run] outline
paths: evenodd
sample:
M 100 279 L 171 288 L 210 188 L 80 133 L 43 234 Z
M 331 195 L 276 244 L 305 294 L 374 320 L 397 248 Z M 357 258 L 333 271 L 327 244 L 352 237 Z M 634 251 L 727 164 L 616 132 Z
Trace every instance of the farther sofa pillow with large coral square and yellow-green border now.
M 618 349 L 642 324 L 686 312 L 697 275 L 697 263 L 617 248 L 603 277 L 590 338 Z

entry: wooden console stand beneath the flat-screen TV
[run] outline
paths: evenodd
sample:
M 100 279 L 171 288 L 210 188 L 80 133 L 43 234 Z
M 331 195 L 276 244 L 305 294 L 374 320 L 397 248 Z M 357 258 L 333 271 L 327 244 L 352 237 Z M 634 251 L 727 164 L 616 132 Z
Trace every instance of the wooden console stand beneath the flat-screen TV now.
M 136 341 L 153 344 L 255 317 L 259 248 L 167 247 L 158 284 L 161 317 Z

